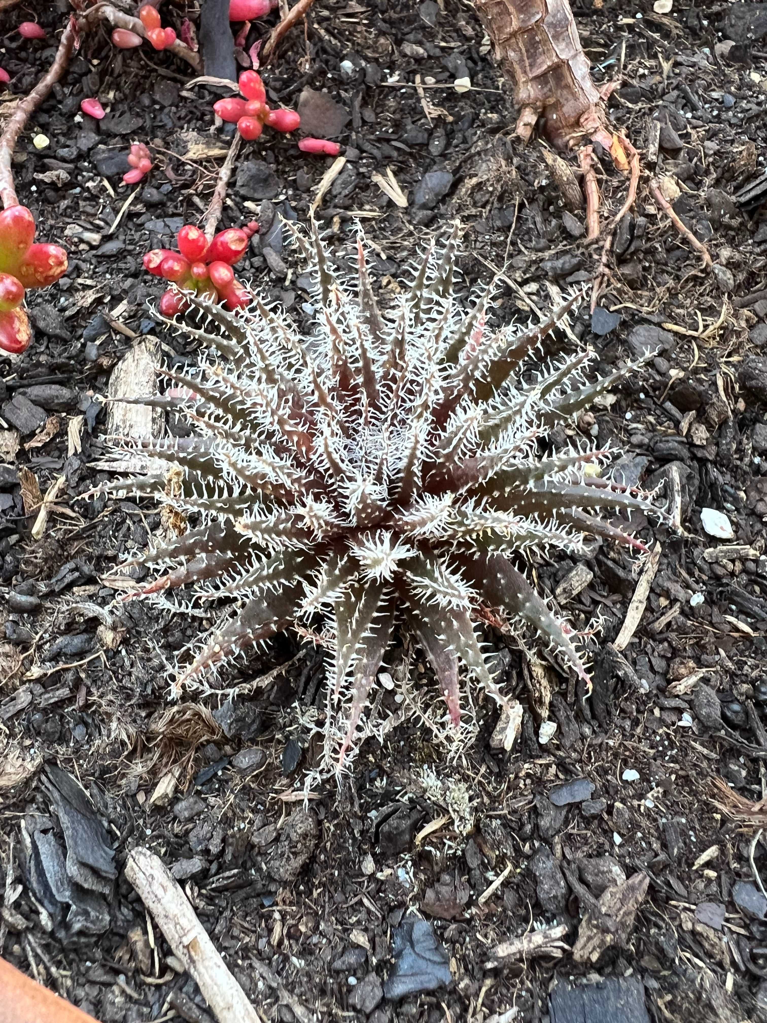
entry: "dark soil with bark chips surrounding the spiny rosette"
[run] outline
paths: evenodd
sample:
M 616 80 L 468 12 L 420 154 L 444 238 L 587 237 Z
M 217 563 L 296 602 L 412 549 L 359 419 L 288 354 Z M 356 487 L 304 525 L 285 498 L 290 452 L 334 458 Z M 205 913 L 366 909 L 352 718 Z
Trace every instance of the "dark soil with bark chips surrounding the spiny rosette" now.
M 759 184 L 767 23 L 743 28 L 762 10 L 754 5 L 676 3 L 670 15 L 647 0 L 577 10 L 596 79 L 623 77 L 610 102 L 614 124 L 643 152 L 653 120 L 662 130 L 657 165 L 645 159 L 634 215 L 618 228 L 601 300 L 620 321 L 597 313 L 593 326 L 611 329 L 593 333 L 584 310 L 575 330 L 602 370 L 660 345 L 613 403 L 578 426 L 625 452 L 627 480 L 677 487 L 683 533 L 658 534 L 660 566 L 623 658 L 610 643 L 636 588 L 626 553 L 599 545 L 592 577 L 563 605 L 578 628 L 601 624 L 590 697 L 548 665 L 531 673 L 496 635 L 506 690 L 525 706 L 510 753 L 490 744 L 497 722 L 487 703 L 473 742 L 456 755 L 412 704 L 403 710 L 387 694 L 382 745 L 368 740 L 341 790 L 315 786 L 306 807 L 321 657 L 283 637 L 221 682 L 238 687 L 233 702 L 224 693 L 172 704 L 163 665 L 196 620 L 121 607 L 110 586 L 160 516 L 132 500 L 80 496 L 107 478 L 97 465 L 112 367 L 144 335 L 171 362 L 188 350 L 152 320 L 147 300 L 160 282 L 141 256 L 171 247 L 207 208 L 222 161 L 200 146 L 228 145 L 211 134 L 216 96 L 188 90 L 188 69 L 169 55 L 114 51 L 99 31 L 25 134 L 19 197 L 39 238 L 67 246 L 71 269 L 31 296 L 29 351 L 0 361 L 0 953 L 103 1023 L 208 1018 L 156 930 L 150 947 L 144 907 L 123 873 L 139 844 L 174 870 L 264 1019 L 292 1020 L 303 1005 L 317 1019 L 374 1023 L 641 1020 L 643 1012 L 656 1021 L 767 1020 L 759 891 L 767 849 L 756 831 L 767 816 L 754 806 L 767 796 L 767 191 Z M 12 30 L 33 11 L 53 40 L 64 8 L 33 0 L 3 15 L 1 62 L 13 94 L 32 88 L 54 50 Z M 726 57 L 723 39 L 734 42 Z M 488 49 L 470 6 L 455 0 L 317 0 L 306 41 L 295 30 L 264 74 L 285 105 L 311 88 L 343 107 L 347 163 L 318 216 L 339 248 L 363 218 L 385 291 L 431 232 L 459 218 L 461 286 L 505 265 L 548 308 L 557 290 L 591 279 L 601 247 L 584 243 L 583 211 L 566 211 L 541 146 L 513 139 L 510 93 L 499 90 Z M 426 89 L 422 104 L 416 75 L 444 88 Z M 452 88 L 463 77 L 475 90 Z M 100 124 L 78 113 L 93 95 L 109 107 Z M 337 113 L 324 112 L 322 124 Z M 45 148 L 33 145 L 38 133 Z M 121 181 L 134 140 L 151 147 L 154 169 L 112 229 L 131 193 Z M 306 221 L 332 160 L 305 157 L 274 133 L 262 143 L 243 146 L 222 225 L 261 221 L 241 275 L 301 317 L 297 254 L 278 226 L 267 227 L 276 212 Z M 597 157 L 606 221 L 626 183 Z M 371 180 L 387 168 L 407 209 Z M 651 203 L 650 174 L 678 183 L 674 208 L 709 244 L 714 272 Z M 739 205 L 738 190 L 755 182 L 751 203 Z M 503 299 L 502 315 L 531 315 L 517 291 L 507 286 Z M 35 539 L 41 496 L 59 480 Z M 727 516 L 731 540 L 707 536 L 705 507 Z M 651 524 L 641 532 L 655 542 Z M 541 562 L 541 587 L 554 593 L 574 567 Z M 416 704 L 432 699 L 425 681 L 416 668 Z M 557 725 L 545 745 L 542 719 Z M 57 768 L 82 783 L 92 807 L 81 800 L 72 809 L 78 799 L 70 791 L 67 800 Z M 583 777 L 592 786 L 555 789 Z M 61 857 L 64 842 L 76 866 L 78 850 L 91 862 L 98 847 L 100 868 L 83 869 L 79 881 L 70 875 L 56 894 L 44 864 Z M 635 918 L 620 907 L 625 888 L 618 908 L 597 905 L 605 886 L 636 875 L 648 887 Z M 449 959 L 452 982 L 396 1002 L 393 950 L 407 934 L 416 944 L 432 934 L 410 926 L 411 909 L 433 921 L 447 953 L 438 946 L 425 969 L 444 982 Z M 595 957 L 576 962 L 570 949 L 579 925 L 581 937 L 588 931 L 587 913 Z M 499 942 L 554 922 L 567 930 L 548 952 L 487 966 Z M 300 1005 L 265 986 L 256 960 Z M 591 990 L 597 1002 L 629 1005 L 621 991 L 631 991 L 634 1009 L 574 1017 L 568 982 L 586 975 L 613 978 Z

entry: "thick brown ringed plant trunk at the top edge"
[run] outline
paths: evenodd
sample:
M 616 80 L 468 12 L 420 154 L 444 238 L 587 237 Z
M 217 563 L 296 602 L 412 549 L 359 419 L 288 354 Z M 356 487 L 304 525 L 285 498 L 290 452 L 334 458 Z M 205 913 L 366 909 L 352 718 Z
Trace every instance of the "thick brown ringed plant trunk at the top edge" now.
M 514 83 L 516 134 L 530 138 L 541 118 L 557 148 L 571 148 L 584 135 L 606 138 L 610 145 L 601 97 L 568 0 L 473 2 L 503 72 Z

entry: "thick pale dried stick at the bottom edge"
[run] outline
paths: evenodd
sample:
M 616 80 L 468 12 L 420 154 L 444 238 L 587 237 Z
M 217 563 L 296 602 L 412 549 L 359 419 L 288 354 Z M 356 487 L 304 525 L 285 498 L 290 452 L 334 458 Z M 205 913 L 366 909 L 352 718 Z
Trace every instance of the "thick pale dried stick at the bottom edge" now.
M 163 860 L 139 846 L 128 856 L 125 876 L 196 981 L 219 1023 L 261 1023 Z

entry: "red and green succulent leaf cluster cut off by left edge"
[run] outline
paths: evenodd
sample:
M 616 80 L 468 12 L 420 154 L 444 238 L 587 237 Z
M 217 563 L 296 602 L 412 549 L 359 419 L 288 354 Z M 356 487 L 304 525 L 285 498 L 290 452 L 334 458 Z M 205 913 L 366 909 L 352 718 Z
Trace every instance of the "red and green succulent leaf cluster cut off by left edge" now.
M 35 218 L 26 206 L 0 213 L 0 349 L 24 352 L 32 340 L 21 308 L 28 287 L 47 287 L 66 272 L 59 246 L 35 241 Z

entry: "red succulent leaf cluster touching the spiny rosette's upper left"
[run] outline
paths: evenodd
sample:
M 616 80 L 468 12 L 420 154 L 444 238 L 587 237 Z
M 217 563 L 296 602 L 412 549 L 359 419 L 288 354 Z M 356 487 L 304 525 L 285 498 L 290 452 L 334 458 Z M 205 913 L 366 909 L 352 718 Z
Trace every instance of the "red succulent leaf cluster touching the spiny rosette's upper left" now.
M 208 242 L 205 233 L 193 224 L 185 224 L 176 235 L 179 251 L 152 249 L 144 256 L 144 269 L 154 277 L 164 277 L 181 292 L 194 292 L 227 309 L 243 309 L 251 294 L 235 278 L 232 267 L 247 252 L 251 237 L 258 231 L 255 220 L 244 227 L 228 227 Z M 163 316 L 185 312 L 189 303 L 180 291 L 169 288 L 160 300 Z

